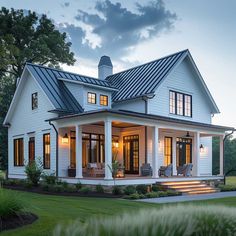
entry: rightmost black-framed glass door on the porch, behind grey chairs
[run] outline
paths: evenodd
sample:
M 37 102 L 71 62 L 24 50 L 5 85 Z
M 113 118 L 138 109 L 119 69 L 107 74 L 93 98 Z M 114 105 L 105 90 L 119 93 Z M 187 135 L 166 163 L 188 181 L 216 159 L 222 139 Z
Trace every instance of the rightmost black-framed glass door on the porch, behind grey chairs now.
M 176 165 L 177 167 L 184 164 L 192 163 L 192 139 L 177 138 L 176 139 Z

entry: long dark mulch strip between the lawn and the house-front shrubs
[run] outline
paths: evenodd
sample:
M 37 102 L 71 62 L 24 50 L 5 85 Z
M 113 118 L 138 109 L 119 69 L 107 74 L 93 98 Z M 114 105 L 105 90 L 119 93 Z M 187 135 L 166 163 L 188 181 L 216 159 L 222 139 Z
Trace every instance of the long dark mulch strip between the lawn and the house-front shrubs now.
M 31 193 L 39 193 L 45 195 L 56 195 L 56 196 L 68 196 L 68 197 L 95 197 L 95 198 L 121 198 L 123 195 L 113 195 L 111 193 L 97 193 L 97 192 L 89 192 L 89 193 L 80 193 L 80 192 L 52 192 L 52 191 L 44 191 L 40 187 L 32 187 L 32 188 L 25 188 L 23 186 L 16 186 L 16 185 L 4 185 L 6 189 L 11 190 L 18 190 L 24 192 L 31 192 Z

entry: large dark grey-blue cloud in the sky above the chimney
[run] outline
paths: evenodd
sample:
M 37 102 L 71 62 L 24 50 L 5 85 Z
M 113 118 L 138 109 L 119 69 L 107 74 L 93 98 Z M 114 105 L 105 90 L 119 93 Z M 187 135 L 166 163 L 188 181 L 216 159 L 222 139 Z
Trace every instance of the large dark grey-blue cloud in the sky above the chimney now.
M 136 3 L 133 10 L 119 2 L 105 0 L 97 2 L 94 10 L 95 13 L 78 10 L 75 19 L 83 27 L 72 24 L 63 27 L 75 53 L 90 59 L 103 54 L 120 59 L 139 43 L 158 37 L 163 31 L 170 31 L 177 19 L 177 15 L 167 10 L 162 0 L 145 5 Z M 99 38 L 95 46 L 93 36 Z

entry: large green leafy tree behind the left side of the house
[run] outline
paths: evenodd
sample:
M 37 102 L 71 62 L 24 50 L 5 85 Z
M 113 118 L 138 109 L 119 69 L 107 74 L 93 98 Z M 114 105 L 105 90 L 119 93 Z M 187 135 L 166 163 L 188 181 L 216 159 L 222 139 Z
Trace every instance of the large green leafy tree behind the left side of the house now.
M 46 15 L 0 9 L 0 169 L 7 167 L 7 128 L 2 123 L 25 63 L 73 65 L 70 46 L 66 33 L 60 33 Z

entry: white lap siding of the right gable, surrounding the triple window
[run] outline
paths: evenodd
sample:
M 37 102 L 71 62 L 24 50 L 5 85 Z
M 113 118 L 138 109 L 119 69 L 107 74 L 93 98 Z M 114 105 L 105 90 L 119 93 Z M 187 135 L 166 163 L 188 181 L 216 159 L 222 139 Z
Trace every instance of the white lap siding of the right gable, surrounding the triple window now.
M 169 113 L 169 91 L 177 91 L 192 95 L 192 117 L 184 117 Z M 160 84 L 155 97 L 148 100 L 148 113 L 184 119 L 202 123 L 211 123 L 211 111 L 204 89 L 196 77 L 188 59 Z

